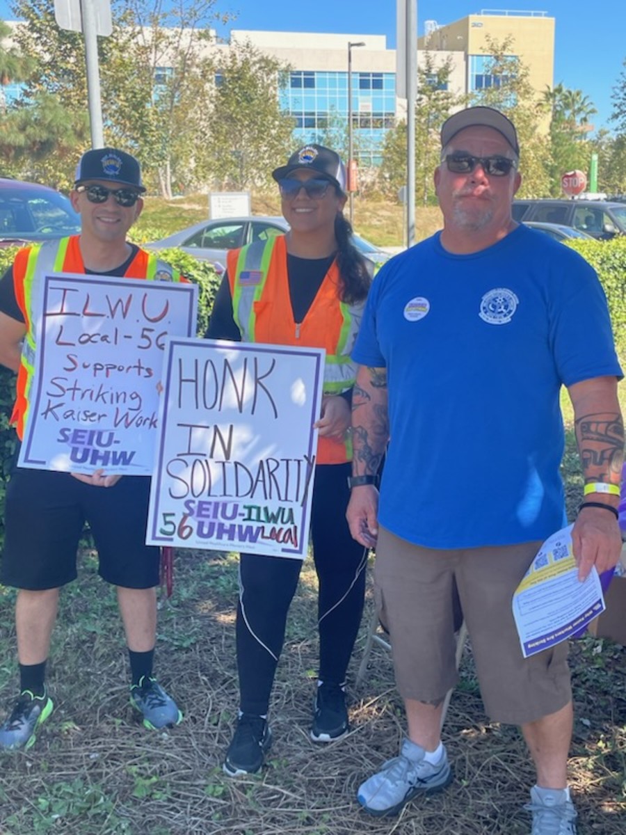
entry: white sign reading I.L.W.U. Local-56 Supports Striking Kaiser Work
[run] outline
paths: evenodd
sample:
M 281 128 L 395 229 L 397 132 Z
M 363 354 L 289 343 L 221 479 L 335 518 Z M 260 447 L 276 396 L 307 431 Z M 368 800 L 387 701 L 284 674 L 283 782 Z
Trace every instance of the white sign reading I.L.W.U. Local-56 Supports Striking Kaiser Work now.
M 194 335 L 197 298 L 174 281 L 46 276 L 19 465 L 151 474 L 165 339 Z

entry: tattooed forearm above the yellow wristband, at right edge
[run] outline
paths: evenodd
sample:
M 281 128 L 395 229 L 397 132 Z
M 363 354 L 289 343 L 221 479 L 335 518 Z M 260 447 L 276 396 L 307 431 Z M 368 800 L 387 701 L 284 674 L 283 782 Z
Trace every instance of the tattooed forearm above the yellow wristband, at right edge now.
M 576 421 L 576 439 L 585 483 L 619 483 L 623 463 L 623 422 L 618 413 L 583 415 Z

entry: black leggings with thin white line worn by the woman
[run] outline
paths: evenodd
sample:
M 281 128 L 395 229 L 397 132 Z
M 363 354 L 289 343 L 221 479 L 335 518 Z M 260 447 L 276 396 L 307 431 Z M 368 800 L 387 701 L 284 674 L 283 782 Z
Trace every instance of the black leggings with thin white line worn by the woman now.
M 321 681 L 342 684 L 361 623 L 366 550 L 346 522 L 351 464 L 318 464 L 310 532 L 320 593 Z M 237 606 L 237 669 L 240 709 L 267 713 L 285 622 L 300 576 L 300 559 L 241 554 Z

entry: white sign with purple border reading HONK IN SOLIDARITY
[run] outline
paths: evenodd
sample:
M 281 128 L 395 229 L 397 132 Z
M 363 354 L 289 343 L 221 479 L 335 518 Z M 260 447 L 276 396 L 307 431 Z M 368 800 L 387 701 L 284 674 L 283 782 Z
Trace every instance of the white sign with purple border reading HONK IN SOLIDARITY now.
M 169 340 L 148 544 L 304 559 L 324 356 Z

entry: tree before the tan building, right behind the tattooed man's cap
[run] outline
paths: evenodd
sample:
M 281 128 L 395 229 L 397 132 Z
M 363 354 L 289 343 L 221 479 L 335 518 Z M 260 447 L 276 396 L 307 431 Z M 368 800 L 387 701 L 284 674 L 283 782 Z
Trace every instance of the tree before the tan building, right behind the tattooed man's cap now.
M 519 197 L 550 191 L 550 147 L 542 120 L 548 113 L 543 97 L 528 81 L 528 67 L 512 54 L 513 38 L 487 38 L 484 76 L 489 83 L 472 94 L 472 104 L 501 110 L 515 124 L 521 149 L 522 186 Z

